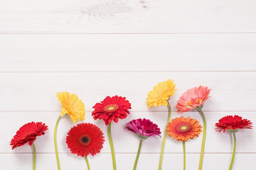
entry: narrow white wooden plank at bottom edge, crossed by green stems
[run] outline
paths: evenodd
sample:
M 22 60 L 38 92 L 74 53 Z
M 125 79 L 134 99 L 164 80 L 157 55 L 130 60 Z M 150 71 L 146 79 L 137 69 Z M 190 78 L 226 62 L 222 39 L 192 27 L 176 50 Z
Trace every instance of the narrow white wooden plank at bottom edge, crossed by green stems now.
M 86 163 L 82 157 L 77 157 L 71 153 L 60 154 L 60 163 L 62 170 L 85 168 Z M 117 169 L 131 170 L 135 161 L 136 154 L 116 154 Z M 186 154 L 186 168 L 189 170 L 198 170 L 200 154 Z M 232 170 L 254 169 L 256 154 L 237 153 Z M 0 167 L 4 170 L 29 170 L 32 168 L 32 154 L 0 154 L 2 163 Z M 205 154 L 203 169 L 207 170 L 225 170 L 229 168 L 231 154 Z M 92 157 L 88 156 L 90 169 L 92 170 L 111 170 L 111 154 L 99 153 Z M 140 154 L 137 163 L 138 170 L 157 170 L 158 154 Z M 99 163 L 100 162 L 100 163 Z M 37 154 L 36 170 L 57 169 L 55 154 Z M 183 169 L 183 154 L 165 154 L 163 157 L 163 170 L 181 170 Z

